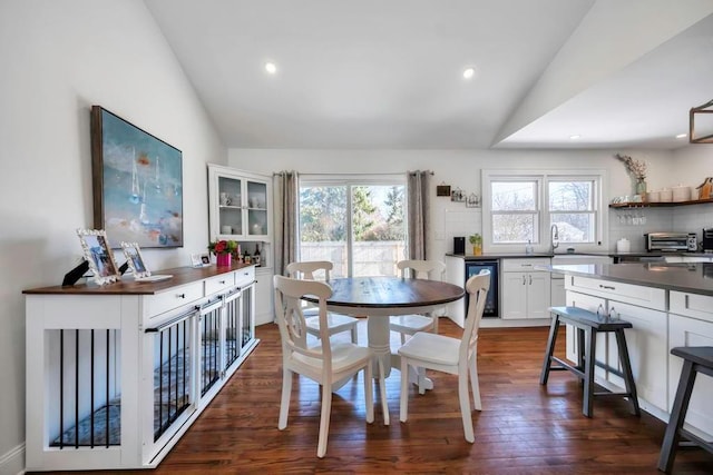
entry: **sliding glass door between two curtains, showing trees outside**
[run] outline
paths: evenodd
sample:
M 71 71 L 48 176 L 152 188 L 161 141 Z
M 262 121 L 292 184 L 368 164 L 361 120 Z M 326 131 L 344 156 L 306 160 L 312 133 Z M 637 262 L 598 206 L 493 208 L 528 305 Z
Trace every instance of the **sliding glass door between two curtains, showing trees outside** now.
M 406 257 L 404 177 L 300 180 L 300 260 L 329 260 L 332 277 L 394 276 Z

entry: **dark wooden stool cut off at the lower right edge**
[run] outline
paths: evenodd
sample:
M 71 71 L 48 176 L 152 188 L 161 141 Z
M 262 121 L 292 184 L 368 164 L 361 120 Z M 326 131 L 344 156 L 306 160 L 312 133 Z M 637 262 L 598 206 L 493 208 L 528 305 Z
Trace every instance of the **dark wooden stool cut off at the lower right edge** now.
M 713 346 L 680 346 L 673 348 L 671 354 L 683 358 L 683 369 L 658 456 L 658 469 L 665 473 L 671 473 L 673 468 L 681 436 L 713 453 L 712 443 L 683 428 L 696 374 L 703 373 L 713 376 Z

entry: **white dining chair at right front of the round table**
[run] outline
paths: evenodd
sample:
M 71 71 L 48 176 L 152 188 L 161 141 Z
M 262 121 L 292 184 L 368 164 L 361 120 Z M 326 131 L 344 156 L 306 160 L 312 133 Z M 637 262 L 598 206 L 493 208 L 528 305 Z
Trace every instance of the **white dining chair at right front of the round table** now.
M 436 369 L 458 375 L 458 399 L 460 402 L 466 441 L 470 443 L 475 441 L 470 396 L 468 394 L 468 375 L 470 374 L 473 406 L 477 410 L 481 410 L 477 364 L 478 328 L 489 288 L 489 270 L 481 270 L 480 274 L 472 276 L 466 283 L 470 303 L 468 305 L 468 315 L 466 316 L 466 328 L 463 328 L 461 338 L 419 331 L 399 348 L 399 356 L 401 357 L 400 419 L 402 423 L 407 422 L 409 413 L 409 366 Z

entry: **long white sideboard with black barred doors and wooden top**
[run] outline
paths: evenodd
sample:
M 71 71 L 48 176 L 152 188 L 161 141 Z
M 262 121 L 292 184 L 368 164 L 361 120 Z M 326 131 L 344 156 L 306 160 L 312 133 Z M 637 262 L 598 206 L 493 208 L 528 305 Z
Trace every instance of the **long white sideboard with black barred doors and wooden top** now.
M 25 290 L 28 471 L 153 468 L 257 345 L 255 268 Z

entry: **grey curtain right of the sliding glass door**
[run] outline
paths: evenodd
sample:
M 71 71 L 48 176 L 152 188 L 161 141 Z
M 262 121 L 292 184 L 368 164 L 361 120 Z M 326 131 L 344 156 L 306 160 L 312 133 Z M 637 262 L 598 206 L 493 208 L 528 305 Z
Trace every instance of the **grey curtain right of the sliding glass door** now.
M 429 222 L 429 189 L 432 171 L 408 172 L 409 259 L 428 259 L 426 226 Z

